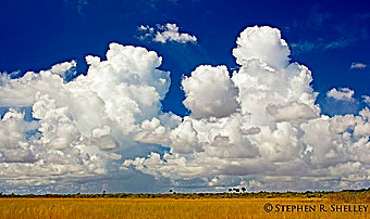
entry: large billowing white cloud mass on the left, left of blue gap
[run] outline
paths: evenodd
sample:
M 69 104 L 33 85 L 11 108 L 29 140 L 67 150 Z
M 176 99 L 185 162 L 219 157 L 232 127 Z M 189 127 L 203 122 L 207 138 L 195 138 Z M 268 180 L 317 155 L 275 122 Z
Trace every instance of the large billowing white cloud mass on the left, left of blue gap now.
M 159 115 L 170 78 L 156 52 L 111 43 L 107 60 L 86 60 L 87 75 L 72 81 L 64 76 L 74 61 L 16 79 L 1 74 L 0 105 L 14 108 L 0 123 L 0 179 L 107 173 L 141 121 Z M 20 106 L 32 107 L 32 121 Z

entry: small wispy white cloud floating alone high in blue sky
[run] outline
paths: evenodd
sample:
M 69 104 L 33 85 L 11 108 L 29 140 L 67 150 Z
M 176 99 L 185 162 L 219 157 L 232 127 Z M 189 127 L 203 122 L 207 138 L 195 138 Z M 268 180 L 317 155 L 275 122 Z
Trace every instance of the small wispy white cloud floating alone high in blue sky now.
M 197 42 L 196 36 L 186 33 L 180 33 L 176 24 L 168 23 L 165 25 L 157 25 L 156 30 L 155 27 L 140 25 L 138 30 L 144 34 L 139 37 L 139 39 L 151 38 L 152 41 L 161 43 L 165 43 L 168 41 L 174 41 L 178 43 Z

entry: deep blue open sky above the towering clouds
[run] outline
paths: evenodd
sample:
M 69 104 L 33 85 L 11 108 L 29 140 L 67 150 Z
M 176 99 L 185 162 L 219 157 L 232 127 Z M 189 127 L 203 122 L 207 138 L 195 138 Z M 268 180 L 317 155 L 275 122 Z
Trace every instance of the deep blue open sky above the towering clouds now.
M 312 86 L 321 94 L 333 87 L 349 87 L 357 98 L 369 92 L 369 68 L 350 69 L 354 62 L 369 62 L 367 1 L 5 0 L 0 16 L 1 70 L 39 70 L 74 59 L 78 73 L 85 73 L 85 55 L 104 55 L 112 41 L 141 46 L 163 56 L 161 68 L 170 70 L 172 79 L 163 108 L 180 115 L 186 114 L 181 103 L 182 75 L 199 64 L 235 67 L 231 54 L 235 39 L 254 25 L 281 29 L 291 44 L 292 60 L 312 70 Z M 139 25 L 164 23 L 197 36 L 198 43 L 162 44 L 137 38 Z M 319 103 L 325 102 L 319 99 Z M 331 107 L 324 110 L 331 113 Z

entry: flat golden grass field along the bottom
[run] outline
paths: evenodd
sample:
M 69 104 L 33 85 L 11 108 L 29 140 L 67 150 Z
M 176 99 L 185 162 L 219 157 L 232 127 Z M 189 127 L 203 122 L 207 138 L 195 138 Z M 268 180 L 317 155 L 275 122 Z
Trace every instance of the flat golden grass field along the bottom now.
M 323 198 L 0 198 L 4 219 L 89 218 L 370 218 L 367 212 L 266 212 L 272 205 L 331 205 Z M 362 203 L 366 204 L 366 203 Z M 369 204 L 370 206 L 370 204 Z M 330 209 L 330 208 L 329 208 Z

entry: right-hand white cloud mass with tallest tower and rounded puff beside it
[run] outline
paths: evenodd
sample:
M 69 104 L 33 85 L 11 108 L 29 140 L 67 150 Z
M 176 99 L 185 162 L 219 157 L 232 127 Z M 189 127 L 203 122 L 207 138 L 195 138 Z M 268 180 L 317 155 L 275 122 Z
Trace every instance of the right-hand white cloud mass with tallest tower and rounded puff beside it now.
M 240 67 L 230 79 L 223 66 L 199 66 L 183 79 L 184 104 L 192 114 L 177 128 L 163 128 L 166 134 L 157 140 L 170 152 L 126 159 L 123 169 L 133 167 L 176 183 L 200 178 L 214 189 L 368 184 L 370 163 L 363 155 L 370 145 L 368 108 L 358 116 L 321 115 L 318 93 L 310 86 L 311 72 L 289 63 L 289 49 L 275 28 L 248 27 L 233 54 Z M 328 92 L 337 100 L 353 100 L 353 95 L 346 88 Z M 220 110 L 221 96 L 229 96 L 233 107 Z M 353 183 L 354 179 L 359 181 Z

